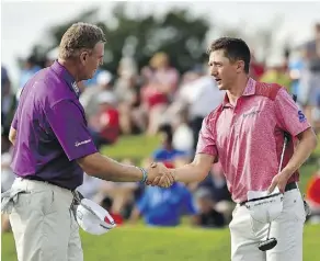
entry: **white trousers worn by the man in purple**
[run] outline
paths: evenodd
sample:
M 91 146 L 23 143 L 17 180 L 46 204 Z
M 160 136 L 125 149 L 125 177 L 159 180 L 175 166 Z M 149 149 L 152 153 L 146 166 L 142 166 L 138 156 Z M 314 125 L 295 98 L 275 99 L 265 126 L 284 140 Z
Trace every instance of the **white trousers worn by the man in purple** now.
M 19 261 L 82 261 L 79 226 L 70 191 L 41 181 L 15 179 L 20 189 L 10 214 Z

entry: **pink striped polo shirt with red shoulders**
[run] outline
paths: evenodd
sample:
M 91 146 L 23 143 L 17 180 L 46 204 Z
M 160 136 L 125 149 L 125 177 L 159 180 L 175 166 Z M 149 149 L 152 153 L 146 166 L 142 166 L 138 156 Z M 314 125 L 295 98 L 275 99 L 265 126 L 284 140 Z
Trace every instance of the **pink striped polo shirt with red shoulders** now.
M 196 152 L 220 161 L 232 198 L 240 203 L 247 201 L 249 190 L 266 190 L 277 174 L 284 132 L 294 138 L 287 144 L 283 167 L 293 156 L 296 136 L 309 127 L 285 88 L 250 78 L 236 106 L 226 95 L 204 120 Z M 288 182 L 298 180 L 297 171 Z

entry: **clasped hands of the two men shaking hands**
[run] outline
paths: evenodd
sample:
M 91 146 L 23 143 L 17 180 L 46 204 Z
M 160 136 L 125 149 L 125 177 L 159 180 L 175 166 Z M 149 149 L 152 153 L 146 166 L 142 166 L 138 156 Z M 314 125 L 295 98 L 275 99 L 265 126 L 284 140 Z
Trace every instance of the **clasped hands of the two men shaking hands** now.
M 160 188 L 171 186 L 175 179 L 172 170 L 168 169 L 163 163 L 153 162 L 147 169 L 148 178 L 147 185 L 158 185 Z

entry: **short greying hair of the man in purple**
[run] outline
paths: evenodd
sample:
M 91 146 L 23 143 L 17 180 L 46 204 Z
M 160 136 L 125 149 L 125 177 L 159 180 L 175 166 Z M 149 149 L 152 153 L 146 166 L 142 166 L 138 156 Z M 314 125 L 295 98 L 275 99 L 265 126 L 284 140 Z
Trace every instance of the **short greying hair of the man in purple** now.
M 103 31 L 94 24 L 75 23 L 64 34 L 59 45 L 59 57 L 68 59 L 81 49 L 92 50 L 98 43 L 105 43 Z

